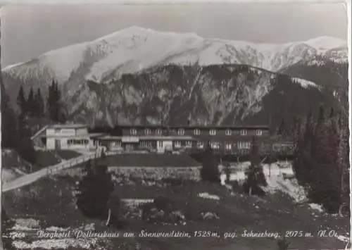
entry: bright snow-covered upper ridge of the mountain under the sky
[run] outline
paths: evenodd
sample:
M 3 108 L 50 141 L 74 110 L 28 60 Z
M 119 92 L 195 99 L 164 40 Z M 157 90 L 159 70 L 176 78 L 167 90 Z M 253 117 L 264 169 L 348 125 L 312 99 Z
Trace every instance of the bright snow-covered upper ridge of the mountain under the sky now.
M 76 79 L 108 82 L 123 73 L 136 73 L 167 64 L 200 65 L 246 64 L 271 71 L 287 68 L 299 61 L 323 56 L 337 62 L 347 61 L 346 42 L 318 37 L 288 44 L 253 44 L 244 41 L 205 39 L 194 33 L 158 32 L 130 27 L 92 42 L 74 44 L 49 51 L 26 63 L 4 68 L 20 79 L 40 79 L 59 83 Z

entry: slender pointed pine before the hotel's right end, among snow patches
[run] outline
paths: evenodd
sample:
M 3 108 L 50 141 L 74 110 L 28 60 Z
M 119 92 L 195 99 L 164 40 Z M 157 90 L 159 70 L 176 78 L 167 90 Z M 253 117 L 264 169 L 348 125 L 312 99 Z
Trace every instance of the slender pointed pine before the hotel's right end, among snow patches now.
M 256 142 L 256 137 L 253 137 L 251 144 L 251 165 L 246 170 L 246 180 L 244 182 L 244 191 L 249 195 L 264 194 L 260 187 L 267 186 L 263 166 L 260 164 L 259 147 Z

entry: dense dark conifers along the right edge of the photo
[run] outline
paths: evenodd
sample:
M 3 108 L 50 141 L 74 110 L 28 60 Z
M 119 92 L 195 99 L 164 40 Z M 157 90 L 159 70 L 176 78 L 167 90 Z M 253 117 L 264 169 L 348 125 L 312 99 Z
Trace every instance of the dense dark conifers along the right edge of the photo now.
M 308 198 L 329 213 L 349 211 L 348 113 L 327 114 L 320 106 L 318 119 L 311 111 L 297 127 L 293 169 Z

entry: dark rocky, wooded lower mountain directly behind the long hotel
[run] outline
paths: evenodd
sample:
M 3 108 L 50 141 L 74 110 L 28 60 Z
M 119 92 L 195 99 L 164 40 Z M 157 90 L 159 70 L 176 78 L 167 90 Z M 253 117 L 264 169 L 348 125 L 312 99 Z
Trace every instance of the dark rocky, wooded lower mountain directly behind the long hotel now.
M 89 125 L 268 124 L 305 116 L 333 104 L 315 85 L 304 85 L 247 65 L 166 65 L 126 74 L 104 85 L 88 81 L 70 102 L 70 120 Z M 300 101 L 297 101 L 300 100 Z

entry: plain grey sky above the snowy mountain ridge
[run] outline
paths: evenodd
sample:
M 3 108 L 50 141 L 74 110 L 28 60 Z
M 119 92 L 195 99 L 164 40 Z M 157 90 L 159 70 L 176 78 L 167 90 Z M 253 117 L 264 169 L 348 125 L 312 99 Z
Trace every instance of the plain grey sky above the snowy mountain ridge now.
M 347 40 L 348 27 L 343 4 L 56 4 L 5 6 L 0 16 L 3 67 L 130 26 L 275 44 L 322 35 Z

